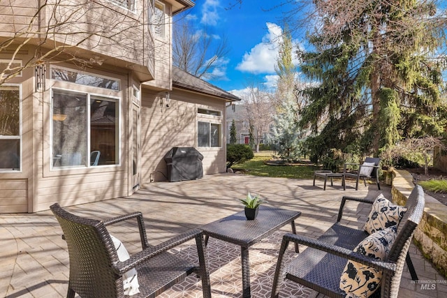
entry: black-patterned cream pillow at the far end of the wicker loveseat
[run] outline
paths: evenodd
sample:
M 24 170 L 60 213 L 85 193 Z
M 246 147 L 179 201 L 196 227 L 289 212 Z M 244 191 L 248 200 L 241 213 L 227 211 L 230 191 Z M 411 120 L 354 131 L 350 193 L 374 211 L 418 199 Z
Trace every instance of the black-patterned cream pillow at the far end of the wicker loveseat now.
M 365 231 L 372 234 L 379 230 L 397 225 L 406 212 L 406 208 L 393 204 L 380 194 L 372 203 L 371 212 L 365 223 Z

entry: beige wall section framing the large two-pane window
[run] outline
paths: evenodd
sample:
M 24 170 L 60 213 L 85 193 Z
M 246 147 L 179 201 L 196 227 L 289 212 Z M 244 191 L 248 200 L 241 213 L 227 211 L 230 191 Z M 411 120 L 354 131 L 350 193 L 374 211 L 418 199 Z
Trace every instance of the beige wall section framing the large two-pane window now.
M 64 65 L 67 66 L 67 65 Z M 34 135 L 43 135 L 43 140 L 51 140 L 50 134 L 50 97 L 51 89 L 67 89 L 78 92 L 89 92 L 91 94 L 119 96 L 119 165 L 103 165 L 98 167 L 80 167 L 73 169 L 54 169 L 50 168 L 50 142 L 38 140 L 38 156 L 36 163 L 36 175 L 34 176 L 35 198 L 33 211 L 45 210 L 54 202 L 61 206 L 73 204 L 82 204 L 85 202 L 94 202 L 97 200 L 107 200 L 129 195 L 128 163 L 127 155 L 129 144 L 128 140 L 128 76 L 122 74 L 91 70 L 89 73 L 94 75 L 105 75 L 119 80 L 121 91 L 101 90 L 95 87 L 86 87 L 69 82 L 57 82 L 47 80 L 47 89 L 43 93 L 40 101 L 43 105 L 38 108 L 35 114 Z M 50 72 L 48 72 L 50 73 Z M 37 110 L 37 107 L 35 107 Z

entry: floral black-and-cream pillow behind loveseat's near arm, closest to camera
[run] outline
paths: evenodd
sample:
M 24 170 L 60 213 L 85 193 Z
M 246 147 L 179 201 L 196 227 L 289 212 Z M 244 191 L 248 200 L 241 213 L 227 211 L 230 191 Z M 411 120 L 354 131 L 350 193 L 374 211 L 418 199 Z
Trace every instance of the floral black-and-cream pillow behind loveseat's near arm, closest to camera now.
M 385 260 L 397 237 L 397 226 L 380 230 L 363 239 L 354 251 L 377 260 Z M 382 271 L 348 260 L 340 278 L 340 289 L 346 297 L 371 296 L 381 283 Z

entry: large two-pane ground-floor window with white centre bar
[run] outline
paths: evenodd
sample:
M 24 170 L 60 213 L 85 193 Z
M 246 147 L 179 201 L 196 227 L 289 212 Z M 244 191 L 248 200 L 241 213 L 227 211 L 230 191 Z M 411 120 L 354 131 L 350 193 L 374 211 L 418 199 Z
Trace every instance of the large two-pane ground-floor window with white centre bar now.
M 52 90 L 52 166 L 117 165 L 118 101 L 76 91 Z

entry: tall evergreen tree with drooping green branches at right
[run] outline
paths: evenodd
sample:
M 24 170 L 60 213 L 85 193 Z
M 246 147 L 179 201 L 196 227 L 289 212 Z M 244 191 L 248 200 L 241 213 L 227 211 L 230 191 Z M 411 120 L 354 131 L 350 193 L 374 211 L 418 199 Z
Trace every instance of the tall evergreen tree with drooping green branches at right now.
M 312 128 L 308 144 L 318 156 L 334 147 L 379 154 L 402 137 L 444 131 L 442 65 L 434 57 L 445 45 L 445 19 L 435 17 L 433 1 L 314 5 L 321 26 L 308 37 L 314 51 L 300 57 L 318 84 L 303 91 L 310 104 L 300 125 Z

